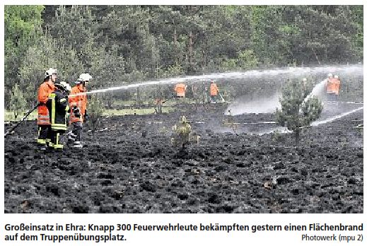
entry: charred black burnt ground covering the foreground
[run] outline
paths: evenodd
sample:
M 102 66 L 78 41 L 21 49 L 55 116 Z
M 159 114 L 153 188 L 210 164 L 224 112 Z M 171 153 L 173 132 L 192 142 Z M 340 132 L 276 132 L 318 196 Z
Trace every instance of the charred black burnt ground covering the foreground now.
M 274 115 L 225 105 L 194 110 L 200 144 L 181 151 L 170 128 L 182 113 L 103 118 L 85 148 L 42 153 L 36 123 L 5 139 L 6 213 L 363 213 L 363 110 L 291 134 L 249 134 Z M 274 127 L 274 125 L 272 126 Z M 6 129 L 8 126 L 6 126 Z M 145 136 L 146 134 L 146 136 Z M 268 188 L 264 184 L 269 185 Z

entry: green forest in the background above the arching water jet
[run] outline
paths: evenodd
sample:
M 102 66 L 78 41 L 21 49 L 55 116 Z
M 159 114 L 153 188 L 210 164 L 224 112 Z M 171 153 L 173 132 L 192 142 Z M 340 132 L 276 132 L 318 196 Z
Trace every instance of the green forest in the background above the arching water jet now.
M 5 6 L 5 107 L 45 69 L 92 88 L 363 59 L 363 6 Z

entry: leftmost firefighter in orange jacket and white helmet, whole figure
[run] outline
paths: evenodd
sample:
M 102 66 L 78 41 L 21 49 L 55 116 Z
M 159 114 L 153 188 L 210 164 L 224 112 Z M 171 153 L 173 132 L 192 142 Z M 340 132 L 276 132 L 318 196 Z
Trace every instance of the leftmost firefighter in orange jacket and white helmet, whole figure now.
M 38 88 L 37 100 L 40 106 L 37 108 L 37 125 L 38 135 L 37 144 L 42 151 L 46 150 L 46 147 L 51 141 L 51 122 L 49 120 L 49 110 L 47 109 L 46 102 L 49 98 L 49 94 L 54 92 L 54 83 L 57 80 L 57 69 L 49 68 L 45 72 L 45 78 L 43 83 Z

